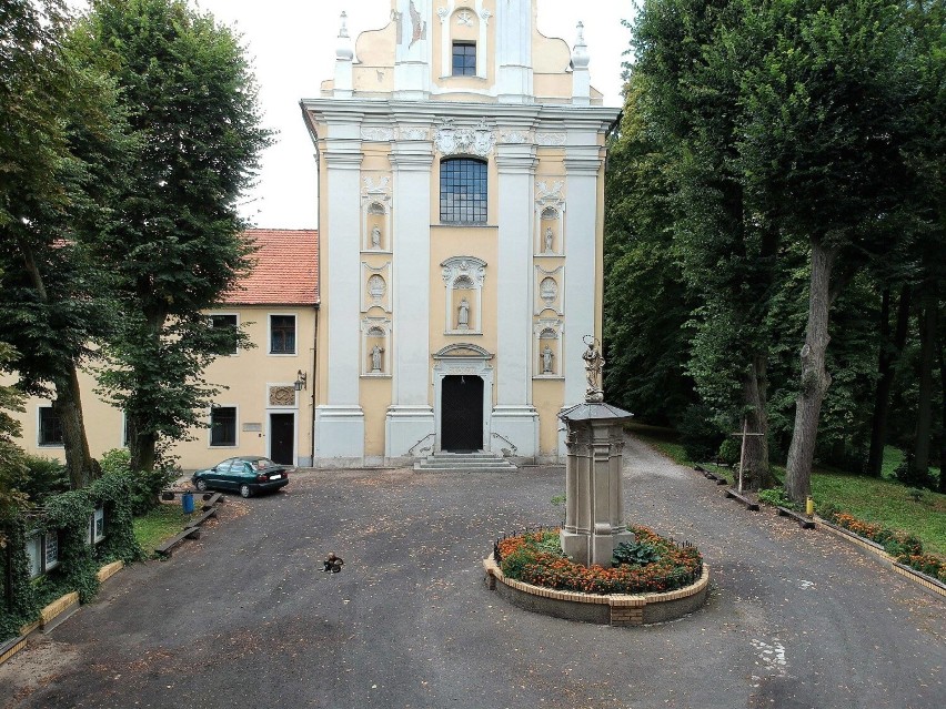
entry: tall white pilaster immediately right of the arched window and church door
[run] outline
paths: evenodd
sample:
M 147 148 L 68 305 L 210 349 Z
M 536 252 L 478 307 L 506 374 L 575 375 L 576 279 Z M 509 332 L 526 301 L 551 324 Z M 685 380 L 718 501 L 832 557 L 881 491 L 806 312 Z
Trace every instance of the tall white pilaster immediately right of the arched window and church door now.
M 491 427 L 516 447 L 517 457 L 539 454 L 539 414 L 532 406 L 532 220 L 535 146 L 501 144 L 496 287 L 496 406 Z M 493 445 L 507 447 L 500 439 Z

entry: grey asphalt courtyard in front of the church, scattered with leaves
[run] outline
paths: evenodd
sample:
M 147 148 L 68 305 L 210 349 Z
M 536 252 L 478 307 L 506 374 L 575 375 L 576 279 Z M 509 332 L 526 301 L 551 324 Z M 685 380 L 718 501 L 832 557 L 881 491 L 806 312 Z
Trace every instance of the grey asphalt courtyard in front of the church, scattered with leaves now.
M 493 537 L 552 524 L 562 468 L 301 473 L 231 497 L 199 541 L 123 570 L 0 667 L 13 707 L 942 709 L 946 601 L 862 553 L 723 499 L 645 446 L 634 521 L 698 544 L 701 611 L 645 628 L 520 611 Z M 329 551 L 344 571 L 320 573 Z

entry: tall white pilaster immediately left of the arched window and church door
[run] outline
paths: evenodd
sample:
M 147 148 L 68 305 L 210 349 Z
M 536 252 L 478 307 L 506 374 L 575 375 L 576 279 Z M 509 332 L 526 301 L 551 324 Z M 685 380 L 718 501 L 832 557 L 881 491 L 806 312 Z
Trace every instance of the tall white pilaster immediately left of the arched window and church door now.
M 402 133 L 404 126 L 402 125 Z M 388 409 L 384 456 L 406 458 L 409 449 L 434 433 L 430 402 L 431 351 L 431 165 L 429 140 L 400 140 L 391 152 L 394 171 L 394 264 L 391 353 L 392 404 Z

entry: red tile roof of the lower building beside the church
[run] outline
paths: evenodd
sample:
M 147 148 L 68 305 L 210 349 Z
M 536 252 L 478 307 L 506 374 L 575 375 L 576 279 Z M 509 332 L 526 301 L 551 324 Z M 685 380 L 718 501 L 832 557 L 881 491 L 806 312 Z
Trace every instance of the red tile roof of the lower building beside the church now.
M 228 305 L 316 305 L 319 232 L 309 229 L 250 229 L 255 265 L 223 302 Z

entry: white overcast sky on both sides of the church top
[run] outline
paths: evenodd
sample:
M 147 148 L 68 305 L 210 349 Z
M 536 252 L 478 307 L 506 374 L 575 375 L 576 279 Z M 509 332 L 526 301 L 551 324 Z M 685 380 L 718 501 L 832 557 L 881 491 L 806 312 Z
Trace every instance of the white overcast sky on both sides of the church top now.
M 241 212 L 258 226 L 315 227 L 316 164 L 299 100 L 318 98 L 321 82 L 333 75 L 341 11 L 348 12 L 349 33 L 355 39 L 388 24 L 391 0 L 199 0 L 198 4 L 243 34 L 254 58 L 264 123 L 279 131 Z M 606 105 L 621 105 L 622 52 L 630 42 L 621 20 L 632 18 L 633 7 L 632 0 L 539 0 L 539 29 L 546 37 L 561 37 L 572 45 L 575 26 L 584 22 L 592 85 L 604 93 Z

